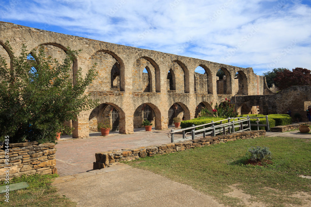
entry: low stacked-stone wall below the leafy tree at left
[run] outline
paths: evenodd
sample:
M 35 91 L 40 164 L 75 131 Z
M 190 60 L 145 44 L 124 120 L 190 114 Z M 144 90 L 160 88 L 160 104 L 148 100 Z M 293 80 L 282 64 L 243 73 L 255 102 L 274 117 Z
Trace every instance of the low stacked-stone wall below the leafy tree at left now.
M 5 151 L 0 150 L 0 179 L 6 177 L 9 169 L 9 177 L 19 177 L 35 173 L 54 174 L 55 168 L 55 144 L 38 142 L 23 142 L 9 144 L 9 162 L 5 162 Z M 10 167 L 10 168 L 5 168 Z

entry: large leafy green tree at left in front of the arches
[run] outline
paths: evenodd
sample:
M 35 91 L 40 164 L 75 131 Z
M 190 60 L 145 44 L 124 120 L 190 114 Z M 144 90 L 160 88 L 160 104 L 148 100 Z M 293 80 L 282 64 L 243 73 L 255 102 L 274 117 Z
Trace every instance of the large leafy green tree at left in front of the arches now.
M 23 45 L 20 56 L 15 56 L 6 45 L 13 66 L 0 56 L 0 141 L 9 136 L 10 143 L 55 142 L 57 132 L 71 130 L 64 121 L 77 120 L 81 111 L 95 106 L 85 93 L 97 75 L 95 65 L 84 78 L 79 68 L 73 84 L 70 73 L 80 51 L 68 48 L 61 64 L 47 57 L 43 47 L 27 52 Z

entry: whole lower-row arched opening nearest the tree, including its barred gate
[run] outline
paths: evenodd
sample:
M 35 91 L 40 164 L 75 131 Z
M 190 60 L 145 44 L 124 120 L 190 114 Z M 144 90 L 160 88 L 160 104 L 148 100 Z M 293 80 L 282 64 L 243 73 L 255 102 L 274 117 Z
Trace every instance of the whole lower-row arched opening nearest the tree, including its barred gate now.
M 110 122 L 110 131 L 124 133 L 124 113 L 118 106 L 112 103 L 100 104 L 91 111 L 89 116 L 90 133 L 98 132 L 98 123 L 104 122 L 105 120 L 109 120 Z

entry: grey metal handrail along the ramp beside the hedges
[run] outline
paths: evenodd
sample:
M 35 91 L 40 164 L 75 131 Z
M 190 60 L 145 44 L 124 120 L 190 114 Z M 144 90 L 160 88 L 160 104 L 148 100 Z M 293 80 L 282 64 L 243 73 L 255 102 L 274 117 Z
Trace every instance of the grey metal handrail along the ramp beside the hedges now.
M 266 124 L 258 124 L 259 121 L 260 121 L 259 118 L 266 118 Z M 230 122 L 231 119 L 233 119 L 232 122 Z M 238 120 L 235 121 L 235 119 L 238 119 Z M 257 119 L 256 120 L 257 124 L 251 124 L 250 123 L 250 119 Z M 222 124 L 222 122 L 225 121 L 225 120 L 228 120 L 228 123 Z M 218 123 L 218 122 L 220 122 L 220 124 L 215 126 L 214 124 Z M 243 124 L 243 122 L 247 122 L 247 124 Z M 211 124 L 212 124 L 211 127 L 205 128 L 205 126 L 211 125 Z M 244 129 L 245 126 L 247 126 L 247 128 Z M 199 136 L 206 137 L 206 135 L 208 135 L 208 134 L 211 134 L 212 136 L 216 136 L 216 134 L 219 134 L 221 131 L 223 131 L 223 133 L 226 133 L 227 130 L 229 130 L 229 133 L 234 133 L 235 132 L 234 128 L 239 128 L 240 129 L 237 132 L 251 130 L 251 126 L 257 126 L 257 130 L 259 130 L 259 126 L 265 126 L 265 127 L 267 127 L 267 131 L 270 131 L 268 116 L 265 116 L 265 117 L 250 117 L 250 116 L 247 116 L 244 119 L 243 119 L 243 117 L 239 117 L 239 118 L 238 117 L 235 117 L 235 118 L 228 117 L 227 119 L 223 119 L 223 120 L 220 120 L 220 121 L 216 121 L 216 122 L 211 121 L 210 123 L 201 124 L 201 125 L 197 125 L 197 126 L 192 125 L 192 127 L 178 129 L 176 131 L 174 131 L 174 129 L 171 129 L 171 132 L 169 132 L 167 136 L 169 138 L 171 138 L 171 142 L 178 142 L 180 140 L 185 140 L 185 139 L 189 139 L 189 138 L 194 139 L 195 137 L 199 137 Z M 195 128 L 198 128 L 198 127 L 203 127 L 203 129 L 195 130 Z M 216 129 L 216 128 L 222 128 L 222 130 L 221 129 Z M 185 133 L 185 131 L 188 130 L 188 129 L 192 129 L 191 132 Z M 211 131 L 206 132 L 208 130 L 211 130 Z M 176 133 L 176 132 L 183 132 L 183 138 L 174 141 L 174 133 Z M 187 134 L 190 134 L 190 133 L 191 133 L 191 136 L 187 137 Z M 195 133 L 202 133 L 202 134 L 195 135 Z M 169 134 L 171 134 L 171 137 L 169 136 Z

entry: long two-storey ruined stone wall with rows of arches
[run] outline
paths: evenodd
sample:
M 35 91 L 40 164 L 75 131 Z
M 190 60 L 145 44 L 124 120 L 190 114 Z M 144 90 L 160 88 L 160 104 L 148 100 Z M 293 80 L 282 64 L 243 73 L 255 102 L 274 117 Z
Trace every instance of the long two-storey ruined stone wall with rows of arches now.
M 211 101 L 220 103 L 235 95 L 234 75 L 237 72 L 244 78 L 244 88 L 241 89 L 244 94 L 262 95 L 268 94 L 270 90 L 264 90 L 264 78 L 255 75 L 252 68 L 240 68 L 0 22 L 0 54 L 8 62 L 8 48 L 4 44 L 6 41 L 10 42 L 14 54 L 20 54 L 22 44 L 29 50 L 43 45 L 47 54 L 60 62 L 67 47 L 81 49 L 82 52 L 72 66 L 71 76 L 78 68 L 82 69 L 82 74 L 86 74 L 97 63 L 96 70 L 99 75 L 86 92 L 92 99 L 98 99 L 99 104 L 108 104 L 118 111 L 119 133 L 133 133 L 134 125 L 137 125 L 134 124 L 134 119 L 139 119 L 134 117 L 134 112 L 142 104 L 153 109 L 156 129 L 167 129 L 168 110 L 174 103 L 182 107 L 186 120 L 194 118 L 200 103 L 212 110 L 214 106 L 209 104 Z M 198 66 L 205 69 L 205 75 L 194 72 Z M 145 68 L 148 77 L 147 73 L 143 73 Z M 219 69 L 226 75 L 223 94 L 217 94 L 216 73 Z M 175 90 L 168 90 L 169 70 L 174 73 Z M 242 84 L 238 85 L 242 87 Z M 75 128 L 73 137 L 88 137 L 89 131 L 96 128 L 95 117 L 99 115 L 93 116 L 93 110 L 95 109 L 81 112 L 77 121 L 72 122 L 72 127 Z M 91 119 L 91 114 L 94 120 Z

